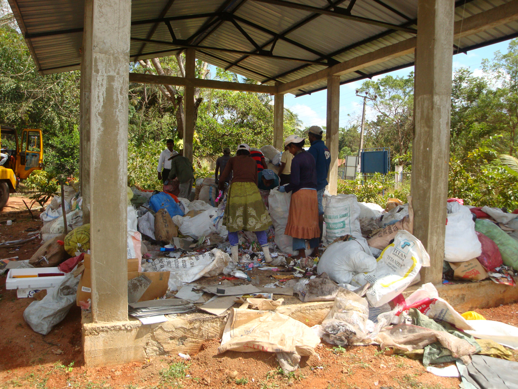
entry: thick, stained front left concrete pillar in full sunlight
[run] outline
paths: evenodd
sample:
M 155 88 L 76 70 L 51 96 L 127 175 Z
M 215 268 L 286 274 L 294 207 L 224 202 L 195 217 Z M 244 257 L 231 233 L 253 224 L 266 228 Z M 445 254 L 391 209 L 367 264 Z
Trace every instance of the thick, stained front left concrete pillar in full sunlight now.
M 90 72 L 92 319 L 127 321 L 127 139 L 131 0 L 86 0 Z M 87 64 L 88 62 L 88 64 Z M 88 75 L 87 75 L 88 77 Z

